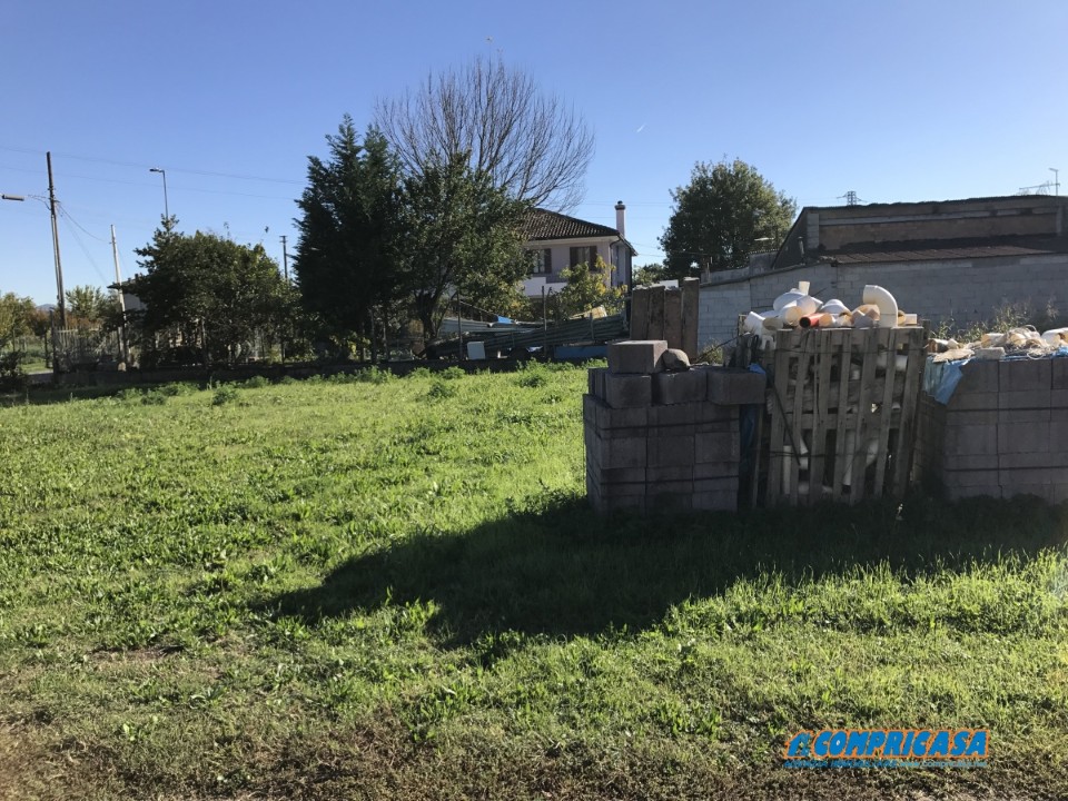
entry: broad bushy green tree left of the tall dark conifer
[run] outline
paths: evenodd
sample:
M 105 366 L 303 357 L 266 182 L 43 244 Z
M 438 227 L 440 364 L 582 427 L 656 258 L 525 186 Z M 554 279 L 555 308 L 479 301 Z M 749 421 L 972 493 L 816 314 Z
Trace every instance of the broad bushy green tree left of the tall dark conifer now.
M 278 342 L 289 325 L 293 289 L 261 245 L 180 235 L 170 219 L 136 253 L 146 273 L 130 289 L 145 305 L 138 328 L 148 352 L 180 344 L 202 364 L 233 363 L 257 336 Z

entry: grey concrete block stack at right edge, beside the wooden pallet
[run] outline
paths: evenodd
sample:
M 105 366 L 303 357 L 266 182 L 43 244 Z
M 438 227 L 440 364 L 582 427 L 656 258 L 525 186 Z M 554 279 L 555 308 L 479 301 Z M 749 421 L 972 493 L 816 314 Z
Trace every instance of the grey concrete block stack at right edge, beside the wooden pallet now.
M 914 477 L 950 498 L 1068 501 L 1068 358 L 969 362 L 948 405 L 921 395 Z

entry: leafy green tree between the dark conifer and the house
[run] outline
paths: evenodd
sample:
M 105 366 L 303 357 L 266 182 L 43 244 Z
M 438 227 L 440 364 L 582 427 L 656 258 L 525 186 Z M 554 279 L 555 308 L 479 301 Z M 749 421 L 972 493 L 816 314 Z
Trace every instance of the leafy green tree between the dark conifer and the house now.
M 521 234 L 527 208 L 473 169 L 466 154 L 427 161 L 405 180 L 402 287 L 425 339 L 437 335 L 449 293 L 482 308 L 517 306 L 528 270 Z

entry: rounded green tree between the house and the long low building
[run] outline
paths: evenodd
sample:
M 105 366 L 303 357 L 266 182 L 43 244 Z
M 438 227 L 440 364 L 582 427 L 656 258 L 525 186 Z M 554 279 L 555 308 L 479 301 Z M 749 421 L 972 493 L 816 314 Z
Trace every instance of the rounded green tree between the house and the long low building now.
M 674 209 L 660 238 L 669 277 L 745 265 L 759 240 L 778 246 L 797 204 L 741 159 L 699 161 L 690 184 L 671 194 Z

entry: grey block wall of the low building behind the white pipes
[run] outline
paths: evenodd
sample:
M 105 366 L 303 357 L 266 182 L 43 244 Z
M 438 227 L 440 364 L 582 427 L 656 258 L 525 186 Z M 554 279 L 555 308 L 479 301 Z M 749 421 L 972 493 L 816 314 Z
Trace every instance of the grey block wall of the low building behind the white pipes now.
M 878 265 L 818 264 L 787 270 L 713 274 L 701 287 L 700 346 L 735 335 L 738 315 L 771 307 L 772 300 L 808 280 L 828 300 L 857 306 L 866 284 L 888 289 L 906 312 L 968 327 L 990 320 L 1007 304 L 1040 313 L 1051 303 L 1068 319 L 1068 255 L 900 261 Z

